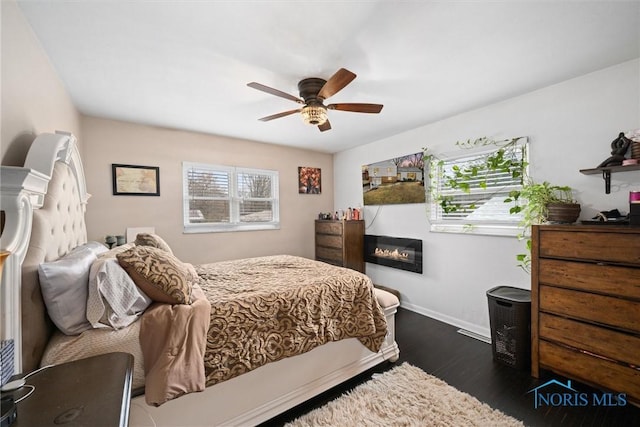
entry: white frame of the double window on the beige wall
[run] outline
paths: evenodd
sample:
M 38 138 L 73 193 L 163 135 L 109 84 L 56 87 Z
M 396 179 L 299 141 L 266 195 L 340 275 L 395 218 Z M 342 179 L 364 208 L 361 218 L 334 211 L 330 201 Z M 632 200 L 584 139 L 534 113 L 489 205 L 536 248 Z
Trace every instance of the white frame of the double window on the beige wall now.
M 229 202 L 229 222 L 203 222 L 192 223 L 190 220 L 189 201 L 189 171 L 192 169 L 209 170 L 215 173 L 226 173 L 229 176 L 228 197 L 220 197 L 220 200 Z M 271 179 L 271 197 L 259 200 L 271 202 L 272 219 L 270 221 L 242 222 L 240 217 L 240 203 L 243 200 L 257 200 L 255 198 L 244 198 L 238 193 L 238 176 L 240 174 L 255 174 L 268 176 Z M 217 233 L 232 231 L 257 231 L 257 230 L 278 230 L 280 229 L 280 194 L 279 194 L 279 172 L 269 169 L 257 169 L 246 167 L 235 167 L 225 165 L 215 165 L 197 162 L 182 162 L 182 219 L 184 233 Z

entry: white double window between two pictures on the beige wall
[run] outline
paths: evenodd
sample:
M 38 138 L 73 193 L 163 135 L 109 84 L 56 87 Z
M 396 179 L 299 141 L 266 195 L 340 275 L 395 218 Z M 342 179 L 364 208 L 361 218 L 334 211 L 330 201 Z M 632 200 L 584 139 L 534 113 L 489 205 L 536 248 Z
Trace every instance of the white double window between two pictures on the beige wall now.
M 280 228 L 278 172 L 184 162 L 184 231 Z

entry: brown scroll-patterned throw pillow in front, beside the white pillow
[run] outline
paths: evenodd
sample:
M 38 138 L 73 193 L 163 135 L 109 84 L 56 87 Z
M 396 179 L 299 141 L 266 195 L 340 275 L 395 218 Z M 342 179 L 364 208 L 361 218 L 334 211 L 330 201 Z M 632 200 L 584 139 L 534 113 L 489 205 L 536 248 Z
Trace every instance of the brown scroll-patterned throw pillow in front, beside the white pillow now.
M 154 301 L 191 304 L 195 278 L 190 264 L 151 246 L 135 246 L 116 255 L 134 283 Z

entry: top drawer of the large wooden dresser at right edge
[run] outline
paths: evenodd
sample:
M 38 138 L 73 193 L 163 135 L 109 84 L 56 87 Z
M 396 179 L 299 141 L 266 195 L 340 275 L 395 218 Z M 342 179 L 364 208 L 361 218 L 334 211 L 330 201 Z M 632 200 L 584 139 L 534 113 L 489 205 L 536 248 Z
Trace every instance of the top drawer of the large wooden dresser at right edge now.
M 637 233 L 594 233 L 540 228 L 540 257 L 574 258 L 640 265 Z

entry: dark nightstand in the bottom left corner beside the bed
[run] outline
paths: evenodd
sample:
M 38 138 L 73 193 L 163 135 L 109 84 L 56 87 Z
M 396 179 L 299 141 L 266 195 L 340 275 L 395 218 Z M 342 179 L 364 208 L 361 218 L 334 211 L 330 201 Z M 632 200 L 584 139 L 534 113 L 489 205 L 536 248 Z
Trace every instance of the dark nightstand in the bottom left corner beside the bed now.
M 12 427 L 127 426 L 132 374 L 129 353 L 108 353 L 43 369 L 27 378 L 35 390 L 17 404 Z M 28 388 L 14 392 L 16 400 L 26 392 Z

